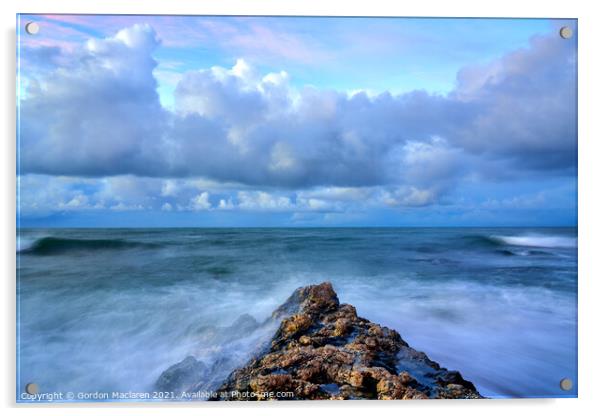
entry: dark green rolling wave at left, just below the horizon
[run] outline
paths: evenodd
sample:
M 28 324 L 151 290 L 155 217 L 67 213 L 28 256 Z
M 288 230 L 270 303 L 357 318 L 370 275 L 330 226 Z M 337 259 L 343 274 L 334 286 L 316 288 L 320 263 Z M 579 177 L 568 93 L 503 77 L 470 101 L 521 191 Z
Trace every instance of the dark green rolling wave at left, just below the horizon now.
M 136 247 L 155 247 L 154 244 L 122 239 L 78 239 L 43 237 L 22 248 L 19 253 L 35 255 L 63 254 L 73 251 L 121 250 Z

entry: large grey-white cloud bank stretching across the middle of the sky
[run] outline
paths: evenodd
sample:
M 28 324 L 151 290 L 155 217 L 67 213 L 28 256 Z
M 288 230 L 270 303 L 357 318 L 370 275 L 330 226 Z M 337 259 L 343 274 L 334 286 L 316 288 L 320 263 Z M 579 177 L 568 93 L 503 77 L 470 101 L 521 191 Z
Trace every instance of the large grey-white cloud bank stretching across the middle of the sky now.
M 576 166 L 574 39 L 537 36 L 466 67 L 445 96 L 298 88 L 284 71 L 260 73 L 239 59 L 174 80 L 174 111 L 156 92 L 159 44 L 152 27 L 137 24 L 73 51 L 37 50 L 54 66 L 28 72 L 20 173 L 147 177 L 163 199 L 113 198 L 114 206 L 337 210 L 333 200 L 365 194 L 424 206 L 469 177 L 562 175 Z M 238 190 L 209 194 L 187 178 Z M 110 181 L 110 192 L 126 182 Z M 65 206 L 71 201 L 86 203 Z

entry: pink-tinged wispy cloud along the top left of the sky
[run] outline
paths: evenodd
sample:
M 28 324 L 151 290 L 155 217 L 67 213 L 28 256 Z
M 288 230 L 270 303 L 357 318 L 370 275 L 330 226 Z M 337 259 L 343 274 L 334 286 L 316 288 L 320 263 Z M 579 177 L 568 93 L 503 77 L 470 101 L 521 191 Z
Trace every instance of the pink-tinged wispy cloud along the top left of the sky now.
M 32 15 L 42 36 L 24 40 L 30 45 L 73 48 L 91 35 L 111 36 L 136 23 L 148 23 L 165 47 L 219 45 L 242 57 L 281 58 L 312 63 L 329 56 L 315 39 L 266 25 L 261 18 L 210 16 Z M 25 24 L 25 22 L 23 23 Z

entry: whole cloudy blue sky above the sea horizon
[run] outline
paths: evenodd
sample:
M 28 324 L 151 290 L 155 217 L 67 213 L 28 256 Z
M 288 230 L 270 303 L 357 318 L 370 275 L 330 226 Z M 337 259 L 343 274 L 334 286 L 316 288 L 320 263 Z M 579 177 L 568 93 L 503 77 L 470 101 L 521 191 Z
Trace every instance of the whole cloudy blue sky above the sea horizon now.
M 21 227 L 577 225 L 575 20 L 17 27 Z

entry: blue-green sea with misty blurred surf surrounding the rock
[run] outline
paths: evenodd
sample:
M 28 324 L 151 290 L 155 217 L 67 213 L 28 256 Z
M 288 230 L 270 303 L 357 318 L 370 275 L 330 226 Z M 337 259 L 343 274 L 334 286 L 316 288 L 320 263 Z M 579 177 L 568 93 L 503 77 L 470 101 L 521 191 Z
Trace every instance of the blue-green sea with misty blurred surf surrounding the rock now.
M 152 391 L 188 355 L 219 384 L 328 280 L 485 396 L 577 394 L 576 228 L 21 229 L 17 272 L 21 391 Z

